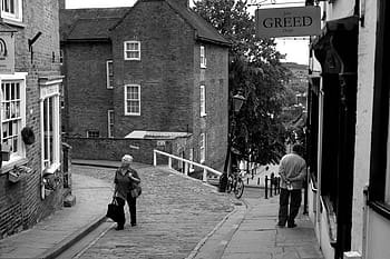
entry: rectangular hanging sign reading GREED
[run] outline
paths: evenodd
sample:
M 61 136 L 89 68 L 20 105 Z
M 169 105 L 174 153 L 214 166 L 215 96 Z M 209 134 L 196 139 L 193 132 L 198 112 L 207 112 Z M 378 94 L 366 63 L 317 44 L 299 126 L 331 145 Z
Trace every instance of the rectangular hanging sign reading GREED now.
M 316 36 L 321 32 L 320 7 L 257 9 L 256 37 Z

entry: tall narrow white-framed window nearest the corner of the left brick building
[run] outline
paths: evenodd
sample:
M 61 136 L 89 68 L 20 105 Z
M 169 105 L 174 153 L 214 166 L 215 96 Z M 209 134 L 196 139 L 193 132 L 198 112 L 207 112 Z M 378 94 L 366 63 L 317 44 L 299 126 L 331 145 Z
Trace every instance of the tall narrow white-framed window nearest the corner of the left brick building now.
M 40 82 L 40 119 L 42 168 L 53 173 L 60 166 L 60 86 L 57 81 Z

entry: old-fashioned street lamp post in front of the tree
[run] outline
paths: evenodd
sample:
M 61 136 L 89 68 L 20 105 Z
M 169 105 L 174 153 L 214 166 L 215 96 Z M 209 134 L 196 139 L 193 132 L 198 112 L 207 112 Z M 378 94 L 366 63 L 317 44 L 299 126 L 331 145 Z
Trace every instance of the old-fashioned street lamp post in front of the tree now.
M 224 171 L 223 175 L 220 178 L 220 191 L 225 192 L 226 185 L 227 185 L 227 177 L 228 177 L 228 169 L 232 167 L 228 167 L 230 161 L 232 159 L 232 142 L 233 142 L 233 132 L 235 129 L 235 113 L 241 110 L 241 107 L 243 106 L 246 98 L 242 94 L 242 90 L 240 89 L 238 92 L 232 97 L 231 101 L 231 109 L 233 108 L 232 113 L 232 127 L 228 127 L 228 136 L 227 136 L 227 152 L 225 158 L 225 165 L 224 165 Z M 231 161 L 232 163 L 232 161 Z

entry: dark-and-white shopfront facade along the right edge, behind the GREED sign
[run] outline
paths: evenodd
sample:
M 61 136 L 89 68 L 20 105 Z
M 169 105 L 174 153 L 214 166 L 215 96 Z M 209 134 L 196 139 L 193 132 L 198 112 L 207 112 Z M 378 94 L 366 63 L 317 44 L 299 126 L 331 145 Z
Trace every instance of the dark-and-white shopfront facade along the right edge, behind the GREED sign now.
M 313 1 L 306 1 L 306 3 Z M 321 1 L 309 89 L 309 213 L 325 258 L 390 258 L 387 1 Z

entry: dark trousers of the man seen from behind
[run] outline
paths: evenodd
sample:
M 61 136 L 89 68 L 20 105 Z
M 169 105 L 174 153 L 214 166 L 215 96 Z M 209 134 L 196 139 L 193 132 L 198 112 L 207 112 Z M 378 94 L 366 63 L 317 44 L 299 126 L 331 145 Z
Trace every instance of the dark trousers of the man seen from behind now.
M 302 193 L 301 189 L 291 190 L 282 188 L 279 200 L 279 226 L 285 226 L 287 222 L 289 226 L 295 223 L 295 217 L 300 211 Z M 290 199 L 290 213 L 289 213 L 289 199 Z

